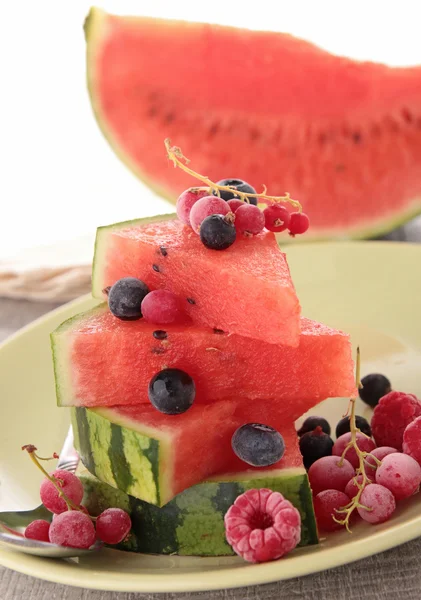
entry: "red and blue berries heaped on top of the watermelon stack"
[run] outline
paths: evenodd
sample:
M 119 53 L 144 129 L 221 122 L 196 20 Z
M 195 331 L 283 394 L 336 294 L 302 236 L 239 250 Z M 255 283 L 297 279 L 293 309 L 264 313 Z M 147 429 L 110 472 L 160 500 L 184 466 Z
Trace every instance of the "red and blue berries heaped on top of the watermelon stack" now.
M 191 188 L 184 191 L 177 200 L 177 215 L 180 221 L 189 225 L 200 235 L 207 248 L 225 250 L 236 240 L 237 235 L 257 235 L 266 227 L 269 231 L 281 232 L 288 229 L 291 236 L 305 233 L 310 226 L 308 216 L 303 212 L 290 213 L 285 206 L 273 203 L 263 211 L 257 206 L 256 190 L 241 179 L 221 179 L 216 186 L 229 187 L 233 191 L 217 192 Z M 243 201 L 235 191 L 246 196 Z

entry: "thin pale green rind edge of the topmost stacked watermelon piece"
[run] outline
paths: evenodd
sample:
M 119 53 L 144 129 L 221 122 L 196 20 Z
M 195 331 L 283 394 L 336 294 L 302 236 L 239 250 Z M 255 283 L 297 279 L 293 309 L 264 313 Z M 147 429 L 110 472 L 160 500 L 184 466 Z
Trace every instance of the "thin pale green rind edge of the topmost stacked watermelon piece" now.
M 92 264 L 92 295 L 94 298 L 104 300 L 104 266 L 107 263 L 108 250 L 108 234 L 122 229 L 131 227 L 142 227 L 150 223 L 159 223 L 160 221 L 170 221 L 177 218 L 175 213 L 167 215 L 156 215 L 154 217 L 146 217 L 143 219 L 133 219 L 131 221 L 122 221 L 121 223 L 113 223 L 98 227 L 95 239 L 94 260 Z

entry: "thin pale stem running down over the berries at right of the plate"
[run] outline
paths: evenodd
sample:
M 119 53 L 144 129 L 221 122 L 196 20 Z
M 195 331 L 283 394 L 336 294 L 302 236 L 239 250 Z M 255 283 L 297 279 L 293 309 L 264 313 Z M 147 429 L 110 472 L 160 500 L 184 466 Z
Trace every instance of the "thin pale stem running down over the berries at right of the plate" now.
M 357 359 L 356 359 L 356 368 L 355 368 L 355 384 L 356 384 L 357 389 L 361 389 L 361 387 L 362 387 L 362 385 L 361 385 L 361 379 L 360 379 L 360 370 L 361 370 L 360 349 L 357 348 Z M 341 456 L 341 460 L 339 462 L 343 464 L 343 461 L 345 459 L 345 455 L 348 452 L 348 450 L 350 450 L 351 448 L 354 448 L 355 452 L 357 453 L 358 461 L 359 461 L 359 466 L 357 468 L 357 476 L 358 475 L 362 475 L 362 481 L 359 482 L 359 481 L 357 481 L 356 477 L 354 478 L 354 483 L 355 483 L 355 485 L 358 488 L 357 494 L 354 496 L 354 498 L 352 498 L 352 500 L 351 500 L 351 502 L 349 504 L 347 504 L 343 508 L 340 508 L 340 509 L 336 510 L 337 513 L 343 514 L 344 518 L 343 519 L 337 519 L 334 515 L 332 515 L 333 520 L 336 521 L 336 523 L 339 523 L 340 525 L 344 525 L 349 533 L 352 533 L 351 529 L 349 528 L 349 521 L 351 519 L 351 515 L 354 512 L 354 510 L 356 510 L 357 508 L 364 508 L 365 510 L 372 510 L 372 508 L 368 508 L 367 506 L 363 506 L 360 503 L 361 494 L 363 493 L 365 487 L 370 483 L 370 479 L 367 477 L 367 473 L 366 473 L 366 470 L 365 470 L 365 459 L 367 458 L 367 456 L 370 455 L 370 453 L 369 452 L 363 452 L 358 447 L 357 433 L 361 433 L 361 431 L 358 429 L 357 424 L 356 424 L 356 418 L 355 418 L 355 401 L 356 401 L 355 397 L 354 398 L 350 398 L 350 406 L 351 406 L 351 415 L 350 415 L 351 441 L 349 442 L 349 444 L 344 449 L 344 451 L 342 453 L 342 456 Z M 364 434 L 362 434 L 362 435 L 364 435 Z M 375 457 L 373 457 L 373 458 L 375 458 Z

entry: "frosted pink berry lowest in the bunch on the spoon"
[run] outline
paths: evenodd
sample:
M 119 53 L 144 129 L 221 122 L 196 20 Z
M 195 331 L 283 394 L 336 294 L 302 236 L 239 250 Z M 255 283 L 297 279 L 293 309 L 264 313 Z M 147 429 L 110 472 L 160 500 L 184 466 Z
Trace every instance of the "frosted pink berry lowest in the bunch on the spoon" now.
M 50 542 L 71 548 L 90 548 L 96 539 L 91 519 L 79 510 L 57 515 L 50 527 Z

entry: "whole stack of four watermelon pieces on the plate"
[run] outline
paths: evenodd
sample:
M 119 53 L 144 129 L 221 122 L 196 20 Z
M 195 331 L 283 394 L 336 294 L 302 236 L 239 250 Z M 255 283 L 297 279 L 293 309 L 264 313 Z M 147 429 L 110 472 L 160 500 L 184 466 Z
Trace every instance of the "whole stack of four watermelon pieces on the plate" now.
M 185 322 L 116 318 L 104 301 L 125 277 L 177 294 Z M 282 492 L 301 512 L 301 543 L 315 543 L 294 422 L 327 397 L 353 394 L 353 364 L 346 334 L 301 316 L 274 234 L 215 252 L 172 215 L 100 228 L 93 295 L 96 308 L 52 334 L 57 398 L 72 407 L 88 507 L 131 512 L 122 547 L 230 554 L 223 516 L 251 487 Z M 195 383 L 183 414 L 160 412 L 148 396 L 168 368 Z M 234 453 L 233 434 L 247 423 L 281 434 L 277 462 L 251 466 Z

